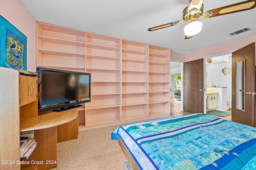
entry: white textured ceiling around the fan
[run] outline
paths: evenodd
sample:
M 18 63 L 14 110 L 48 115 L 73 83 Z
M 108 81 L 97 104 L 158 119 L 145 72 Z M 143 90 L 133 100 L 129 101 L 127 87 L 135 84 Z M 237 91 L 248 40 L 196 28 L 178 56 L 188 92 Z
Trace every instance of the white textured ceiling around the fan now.
M 148 31 L 182 20 L 188 0 L 20 0 L 36 21 L 171 48 L 190 53 L 256 34 L 256 8 L 203 19 L 202 31 L 184 39 L 186 23 Z M 204 0 L 204 12 L 244 0 Z M 250 27 L 252 30 L 230 36 Z

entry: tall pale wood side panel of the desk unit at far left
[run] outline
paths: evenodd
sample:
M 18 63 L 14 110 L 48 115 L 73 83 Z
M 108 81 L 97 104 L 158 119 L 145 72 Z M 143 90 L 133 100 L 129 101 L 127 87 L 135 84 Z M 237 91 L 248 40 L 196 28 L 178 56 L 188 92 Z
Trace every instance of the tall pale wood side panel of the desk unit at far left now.
M 1 170 L 19 170 L 20 116 L 19 74 L 16 70 L 0 67 L 0 164 Z M 7 162 L 13 160 L 14 162 Z

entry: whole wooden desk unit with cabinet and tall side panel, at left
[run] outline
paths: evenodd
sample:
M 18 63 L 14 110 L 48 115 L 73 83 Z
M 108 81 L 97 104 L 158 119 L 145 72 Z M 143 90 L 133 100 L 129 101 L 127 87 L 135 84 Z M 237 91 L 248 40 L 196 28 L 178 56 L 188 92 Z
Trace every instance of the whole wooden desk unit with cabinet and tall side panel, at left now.
M 0 67 L 0 74 L 0 158 L 6 160 L 4 164 L 1 162 L 0 169 L 48 170 L 56 168 L 57 142 L 77 138 L 78 108 L 61 113 L 50 111 L 38 115 L 37 100 L 34 98 L 29 99 L 23 106 L 19 104 L 24 99 L 24 97 L 20 98 L 22 96 L 20 93 L 28 86 L 27 84 L 35 83 L 36 73 L 22 70 L 18 72 L 14 69 Z M 33 88 L 29 93 L 33 93 Z M 29 97 L 25 97 L 27 98 Z M 30 164 L 20 165 L 20 132 L 24 131 L 34 131 L 34 139 L 38 143 L 30 157 L 25 160 Z M 53 160 L 53 164 L 47 164 L 46 161 L 49 160 Z M 37 161 L 43 164 L 37 166 L 32 164 Z

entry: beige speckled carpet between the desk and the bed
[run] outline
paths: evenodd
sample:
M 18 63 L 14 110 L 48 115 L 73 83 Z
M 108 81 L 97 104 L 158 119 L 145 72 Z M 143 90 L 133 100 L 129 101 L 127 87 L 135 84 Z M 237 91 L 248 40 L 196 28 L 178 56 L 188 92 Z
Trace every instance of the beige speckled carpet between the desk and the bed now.
M 53 170 L 123 170 L 126 157 L 111 133 L 120 125 L 80 131 L 78 139 L 57 144 Z

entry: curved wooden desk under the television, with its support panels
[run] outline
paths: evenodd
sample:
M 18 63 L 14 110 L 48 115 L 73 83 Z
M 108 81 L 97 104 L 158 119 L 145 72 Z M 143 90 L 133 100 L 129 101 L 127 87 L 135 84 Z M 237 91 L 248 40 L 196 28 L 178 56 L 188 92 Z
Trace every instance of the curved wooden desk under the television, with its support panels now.
M 69 133 L 74 134 L 76 132 L 76 138 L 78 135 L 78 108 L 70 109 L 63 112 L 48 112 L 38 117 L 30 117 L 20 119 L 20 131 L 34 131 L 34 139 L 36 139 L 37 146 L 32 152 L 30 157 L 26 161 L 38 162 L 38 170 L 48 170 L 57 167 L 57 129 L 59 131 L 65 131 L 65 135 L 60 134 L 60 137 L 67 139 Z M 68 128 L 69 124 L 73 125 L 73 128 Z M 62 127 L 64 125 L 64 127 Z M 76 125 L 76 127 L 74 127 Z M 72 132 L 70 132 L 70 129 Z M 70 140 L 70 139 L 67 139 Z M 58 140 L 59 141 L 59 140 Z M 47 164 L 48 163 L 48 164 Z M 50 164 L 49 164 L 50 163 Z M 32 164 L 21 165 L 21 169 L 29 168 Z

